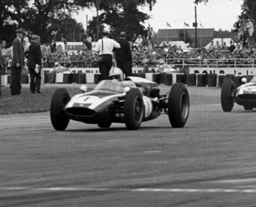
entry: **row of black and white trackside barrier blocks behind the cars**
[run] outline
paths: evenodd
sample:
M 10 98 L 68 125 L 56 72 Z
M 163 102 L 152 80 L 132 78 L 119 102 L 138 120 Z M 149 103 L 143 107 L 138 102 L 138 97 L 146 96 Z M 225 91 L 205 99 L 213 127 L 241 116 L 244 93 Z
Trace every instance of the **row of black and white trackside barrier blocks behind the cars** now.
M 44 71 L 45 83 L 58 84 L 58 83 L 99 83 L 101 75 L 99 73 L 53 73 L 50 71 Z M 185 73 L 133 73 L 133 76 L 146 78 L 147 80 L 156 82 L 158 84 L 173 85 L 174 83 L 184 83 L 188 86 L 198 87 L 222 87 L 225 78 L 231 78 L 236 86 L 242 84 L 241 80 L 243 77 L 250 81 L 253 75 L 242 76 L 234 74 L 185 74 Z M 2 75 L 2 84 L 10 84 L 10 75 Z M 29 75 L 27 73 L 22 74 L 21 83 L 28 84 L 30 82 Z

